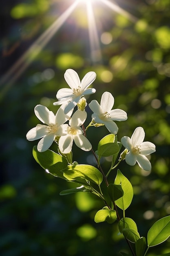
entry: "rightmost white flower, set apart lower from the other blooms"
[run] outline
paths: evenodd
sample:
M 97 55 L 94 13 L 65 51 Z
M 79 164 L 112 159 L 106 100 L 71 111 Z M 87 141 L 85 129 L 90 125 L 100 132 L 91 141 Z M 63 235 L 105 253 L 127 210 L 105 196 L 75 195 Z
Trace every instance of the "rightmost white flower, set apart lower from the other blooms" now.
M 145 132 L 142 127 L 137 127 L 132 134 L 131 139 L 127 136 L 121 138 L 121 143 L 129 150 L 126 154 L 125 161 L 129 165 L 135 165 L 136 162 L 140 168 L 145 171 L 151 170 L 151 164 L 146 157 L 155 152 L 155 145 L 152 142 L 144 141 Z

